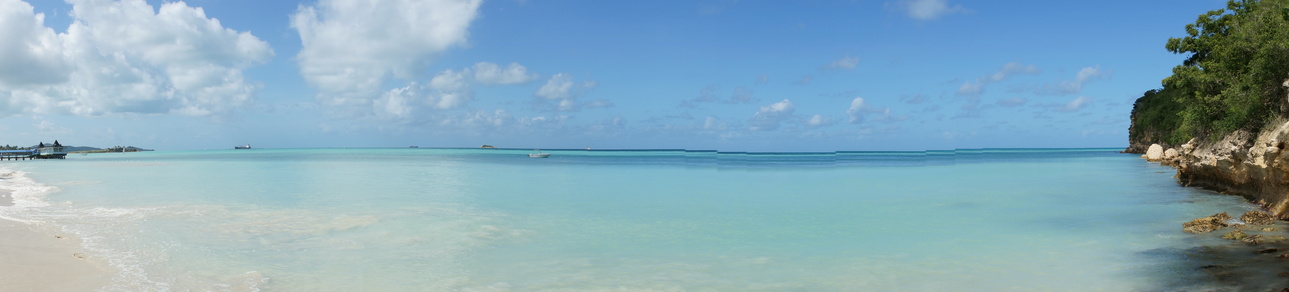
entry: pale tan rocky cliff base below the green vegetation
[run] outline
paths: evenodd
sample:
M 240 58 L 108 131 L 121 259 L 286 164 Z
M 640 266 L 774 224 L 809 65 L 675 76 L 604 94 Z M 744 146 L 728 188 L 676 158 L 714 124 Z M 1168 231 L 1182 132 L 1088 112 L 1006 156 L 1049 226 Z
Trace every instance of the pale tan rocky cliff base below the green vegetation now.
M 1192 139 L 1158 156 L 1142 157 L 1177 167 L 1177 179 L 1183 185 L 1241 196 L 1279 219 L 1289 219 L 1285 141 L 1289 141 L 1289 122 L 1283 121 L 1257 134 L 1235 131 L 1212 143 Z

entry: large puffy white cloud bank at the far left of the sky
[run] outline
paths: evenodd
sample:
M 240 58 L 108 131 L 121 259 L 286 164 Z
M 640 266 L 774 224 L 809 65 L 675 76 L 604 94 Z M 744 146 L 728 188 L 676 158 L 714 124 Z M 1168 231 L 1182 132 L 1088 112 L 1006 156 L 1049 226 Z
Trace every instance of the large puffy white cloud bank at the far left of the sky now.
M 0 1 L 0 116 L 220 114 L 254 94 L 242 69 L 273 55 L 182 1 L 68 3 L 72 24 L 55 33 L 27 3 Z

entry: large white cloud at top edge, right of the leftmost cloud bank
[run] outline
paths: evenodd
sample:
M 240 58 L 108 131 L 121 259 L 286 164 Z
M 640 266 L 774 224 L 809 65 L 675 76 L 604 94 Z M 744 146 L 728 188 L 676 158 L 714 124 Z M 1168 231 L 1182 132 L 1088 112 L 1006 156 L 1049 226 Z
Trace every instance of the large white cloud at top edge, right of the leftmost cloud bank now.
M 391 76 L 414 80 L 464 45 L 481 0 L 320 0 L 300 5 L 300 75 L 325 104 L 365 104 Z

